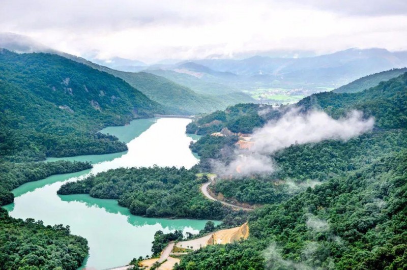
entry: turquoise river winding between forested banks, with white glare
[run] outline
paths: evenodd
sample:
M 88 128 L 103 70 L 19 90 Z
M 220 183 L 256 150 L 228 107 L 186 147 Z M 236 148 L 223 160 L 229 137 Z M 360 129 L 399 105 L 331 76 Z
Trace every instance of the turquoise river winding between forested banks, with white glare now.
M 151 242 L 157 230 L 183 230 L 196 233 L 207 220 L 156 219 L 131 215 L 115 200 L 92 198 L 89 195 L 57 195 L 66 182 L 77 181 L 89 173 L 119 167 L 184 166 L 198 162 L 190 149 L 192 140 L 185 134 L 190 119 L 137 119 L 124 127 L 108 127 L 101 132 L 117 136 L 128 145 L 124 153 L 90 155 L 55 160 L 90 161 L 91 170 L 53 175 L 24 184 L 13 190 L 14 203 L 6 205 L 14 218 L 34 218 L 45 225 L 70 225 L 71 233 L 88 239 L 89 257 L 83 267 L 103 269 L 127 264 L 132 258 L 151 255 Z M 214 221 L 219 224 L 218 221 Z M 82 268 L 83 268 L 82 267 Z

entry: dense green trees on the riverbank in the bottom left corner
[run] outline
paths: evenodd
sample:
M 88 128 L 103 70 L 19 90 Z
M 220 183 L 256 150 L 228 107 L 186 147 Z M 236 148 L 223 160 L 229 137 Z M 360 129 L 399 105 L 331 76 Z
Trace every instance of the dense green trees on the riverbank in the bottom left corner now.
M 69 226 L 13 219 L 0 207 L 1 269 L 77 269 L 88 256 L 88 241 Z M 20 268 L 21 267 L 21 268 Z

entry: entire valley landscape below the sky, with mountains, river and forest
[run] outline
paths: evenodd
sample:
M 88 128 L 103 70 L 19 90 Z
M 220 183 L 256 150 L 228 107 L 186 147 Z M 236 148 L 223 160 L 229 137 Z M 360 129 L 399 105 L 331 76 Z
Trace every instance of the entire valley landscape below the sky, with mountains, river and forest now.
M 407 268 L 405 51 L 146 64 L 11 36 L 0 269 Z

